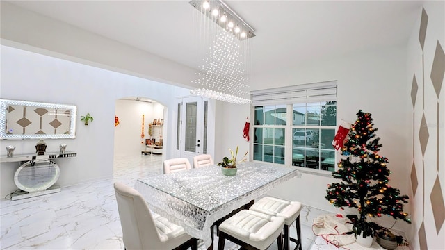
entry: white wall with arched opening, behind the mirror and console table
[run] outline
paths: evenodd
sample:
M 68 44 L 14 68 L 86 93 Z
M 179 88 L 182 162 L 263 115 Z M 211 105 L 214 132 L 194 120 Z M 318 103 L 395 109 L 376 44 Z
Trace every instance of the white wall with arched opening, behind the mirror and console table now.
M 128 76 L 105 69 L 72 63 L 42 56 L 37 53 L 1 46 L 0 97 L 47 103 L 64 103 L 77 106 L 75 139 L 46 140 L 47 151 L 58 151 L 60 143 L 67 151 L 76 151 L 76 158 L 56 160 L 60 165 L 60 178 L 56 185 L 65 187 L 113 176 L 115 101 L 122 97 L 147 97 L 163 103 L 172 117 L 170 106 L 175 98 L 188 94 L 188 90 Z M 90 113 L 95 119 L 85 126 L 81 115 Z M 122 121 L 124 122 L 124 121 Z M 168 126 L 168 124 L 165 124 Z M 139 132 L 138 132 L 139 133 Z M 3 140 L 0 149 L 16 146 L 15 155 L 34 153 L 36 140 Z M 167 149 L 165 157 L 172 149 Z M 6 156 L 6 149 L 0 151 Z M 18 163 L 2 163 L 0 167 L 0 195 L 17 189 L 13 177 Z

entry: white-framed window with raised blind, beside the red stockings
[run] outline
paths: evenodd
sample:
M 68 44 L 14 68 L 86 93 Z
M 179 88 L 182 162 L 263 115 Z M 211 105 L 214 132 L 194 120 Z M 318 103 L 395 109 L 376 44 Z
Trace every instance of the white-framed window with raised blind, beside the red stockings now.
M 253 160 L 334 171 L 337 82 L 252 92 Z

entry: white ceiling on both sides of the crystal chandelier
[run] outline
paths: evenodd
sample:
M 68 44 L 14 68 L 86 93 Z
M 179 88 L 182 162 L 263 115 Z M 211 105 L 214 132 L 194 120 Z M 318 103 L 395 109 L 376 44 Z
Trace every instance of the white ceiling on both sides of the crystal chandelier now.
M 10 1 L 195 67 L 188 1 Z M 225 1 L 255 29 L 252 73 L 405 44 L 422 1 Z

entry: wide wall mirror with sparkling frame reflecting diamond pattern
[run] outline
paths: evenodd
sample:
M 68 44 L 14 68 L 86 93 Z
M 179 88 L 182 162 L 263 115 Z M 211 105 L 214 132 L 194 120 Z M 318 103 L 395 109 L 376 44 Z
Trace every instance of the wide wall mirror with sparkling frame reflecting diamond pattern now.
M 76 106 L 0 99 L 0 139 L 76 137 Z

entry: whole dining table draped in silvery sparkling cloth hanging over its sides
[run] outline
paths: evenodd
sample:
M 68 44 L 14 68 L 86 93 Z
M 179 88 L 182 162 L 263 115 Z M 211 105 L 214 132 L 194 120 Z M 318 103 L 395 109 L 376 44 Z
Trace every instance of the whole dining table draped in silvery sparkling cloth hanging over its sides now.
M 140 178 L 134 188 L 150 210 L 181 225 L 211 248 L 215 222 L 296 176 L 301 176 L 296 167 L 244 162 L 238 164 L 234 176 L 225 176 L 220 166 L 209 165 Z

